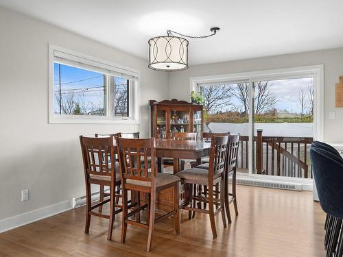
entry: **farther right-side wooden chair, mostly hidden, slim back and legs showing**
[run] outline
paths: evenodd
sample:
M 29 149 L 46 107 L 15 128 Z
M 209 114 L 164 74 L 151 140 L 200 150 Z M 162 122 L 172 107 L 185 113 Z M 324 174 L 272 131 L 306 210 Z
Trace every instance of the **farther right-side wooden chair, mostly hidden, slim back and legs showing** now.
M 230 216 L 230 204 L 233 203 L 235 207 L 235 214 L 238 215 L 238 208 L 237 208 L 237 191 L 236 191 L 236 173 L 237 173 L 237 162 L 238 162 L 238 150 L 239 150 L 239 140 L 240 134 L 237 135 L 230 135 L 229 142 L 228 142 L 228 162 L 227 168 L 225 173 L 225 210 L 226 216 L 228 217 L 228 223 L 231 223 L 231 216 Z M 231 193 L 228 192 L 228 178 L 232 178 L 232 191 Z

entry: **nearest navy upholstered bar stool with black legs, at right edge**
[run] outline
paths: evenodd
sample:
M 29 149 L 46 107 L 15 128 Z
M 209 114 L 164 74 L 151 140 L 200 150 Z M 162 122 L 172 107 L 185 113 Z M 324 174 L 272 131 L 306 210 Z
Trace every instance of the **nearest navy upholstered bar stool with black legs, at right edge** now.
M 331 224 L 327 227 L 329 239 L 324 240 L 327 256 L 333 256 L 334 253 L 335 256 L 342 256 L 343 159 L 327 145 L 320 143 L 311 145 L 310 154 L 320 206 L 331 216 Z

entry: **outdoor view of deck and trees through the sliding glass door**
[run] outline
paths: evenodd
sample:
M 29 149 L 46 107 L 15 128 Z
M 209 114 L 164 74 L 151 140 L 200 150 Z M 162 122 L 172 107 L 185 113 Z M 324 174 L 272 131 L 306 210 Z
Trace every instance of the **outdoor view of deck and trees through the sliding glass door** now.
M 253 173 L 311 178 L 313 78 L 255 81 L 252 85 Z M 198 92 L 204 97 L 209 130 L 241 134 L 238 171 L 248 173 L 249 82 L 198 84 Z

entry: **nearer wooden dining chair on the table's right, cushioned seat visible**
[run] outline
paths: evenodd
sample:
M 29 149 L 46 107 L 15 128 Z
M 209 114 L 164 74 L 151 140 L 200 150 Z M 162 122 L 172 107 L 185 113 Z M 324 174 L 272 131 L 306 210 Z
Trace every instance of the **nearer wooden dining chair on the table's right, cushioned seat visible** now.
M 176 173 L 181 178 L 181 182 L 208 186 L 208 196 L 191 194 L 191 199 L 180 206 L 189 212 L 203 212 L 209 214 L 213 238 L 217 237 L 215 228 L 215 215 L 221 213 L 224 228 L 226 228 L 226 217 L 224 210 L 224 176 L 226 168 L 226 156 L 228 151 L 228 136 L 213 136 L 211 138 L 209 169 L 191 168 Z M 220 198 L 215 197 L 213 186 L 220 184 Z M 190 187 L 191 188 L 191 187 Z M 209 210 L 196 205 L 194 200 L 207 202 Z M 216 208 L 214 208 L 216 207 Z

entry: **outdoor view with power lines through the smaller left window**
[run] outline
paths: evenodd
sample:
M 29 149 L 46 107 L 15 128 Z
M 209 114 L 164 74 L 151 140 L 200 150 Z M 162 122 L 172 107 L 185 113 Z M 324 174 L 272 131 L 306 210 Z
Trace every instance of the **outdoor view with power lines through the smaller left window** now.
M 129 79 L 54 62 L 55 114 L 106 116 L 108 112 L 129 117 Z

